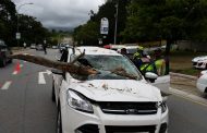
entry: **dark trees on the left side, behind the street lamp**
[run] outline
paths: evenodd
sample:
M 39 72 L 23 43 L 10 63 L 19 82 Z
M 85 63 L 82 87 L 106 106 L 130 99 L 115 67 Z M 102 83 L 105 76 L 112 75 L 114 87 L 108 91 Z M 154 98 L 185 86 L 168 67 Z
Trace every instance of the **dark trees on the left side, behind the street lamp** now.
M 11 0 L 0 0 L 0 39 L 3 39 L 9 46 L 16 46 L 15 34 L 21 33 L 20 44 L 42 43 L 47 39 L 49 32 L 35 17 L 19 14 L 16 5 Z

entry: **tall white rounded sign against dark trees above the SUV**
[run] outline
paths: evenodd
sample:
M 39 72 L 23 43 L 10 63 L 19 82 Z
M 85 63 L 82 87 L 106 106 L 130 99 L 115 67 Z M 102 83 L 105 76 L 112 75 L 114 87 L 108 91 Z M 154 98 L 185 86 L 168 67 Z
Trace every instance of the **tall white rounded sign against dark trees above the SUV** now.
M 100 20 L 100 34 L 108 35 L 109 32 L 109 20 L 107 17 L 102 17 Z

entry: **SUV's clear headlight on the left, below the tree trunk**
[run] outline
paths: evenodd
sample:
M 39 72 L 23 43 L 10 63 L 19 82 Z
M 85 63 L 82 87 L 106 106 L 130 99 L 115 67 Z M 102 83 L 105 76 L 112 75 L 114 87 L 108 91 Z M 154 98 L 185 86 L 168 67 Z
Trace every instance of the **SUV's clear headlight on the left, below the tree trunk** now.
M 94 113 L 92 104 L 85 97 L 78 93 L 75 93 L 74 90 L 68 90 L 68 104 L 76 110 Z

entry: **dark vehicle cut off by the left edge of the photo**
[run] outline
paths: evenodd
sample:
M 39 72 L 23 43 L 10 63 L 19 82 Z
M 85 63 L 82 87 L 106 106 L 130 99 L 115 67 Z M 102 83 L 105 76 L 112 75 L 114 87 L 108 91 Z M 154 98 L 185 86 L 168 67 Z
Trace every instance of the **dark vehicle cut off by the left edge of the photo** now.
M 10 55 L 12 55 L 12 51 L 5 43 L 0 39 L 0 66 L 5 66 L 8 62 L 12 62 L 12 59 L 8 58 Z

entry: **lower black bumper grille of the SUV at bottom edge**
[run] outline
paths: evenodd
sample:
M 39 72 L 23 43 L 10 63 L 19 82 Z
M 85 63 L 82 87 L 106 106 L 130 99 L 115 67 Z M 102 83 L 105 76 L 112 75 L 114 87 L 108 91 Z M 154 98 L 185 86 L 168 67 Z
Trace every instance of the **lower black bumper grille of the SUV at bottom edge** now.
M 105 126 L 107 133 L 135 133 L 135 132 L 147 132 L 155 133 L 156 125 L 142 125 L 142 126 Z

